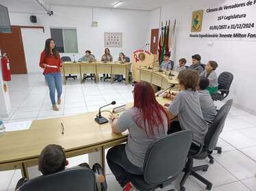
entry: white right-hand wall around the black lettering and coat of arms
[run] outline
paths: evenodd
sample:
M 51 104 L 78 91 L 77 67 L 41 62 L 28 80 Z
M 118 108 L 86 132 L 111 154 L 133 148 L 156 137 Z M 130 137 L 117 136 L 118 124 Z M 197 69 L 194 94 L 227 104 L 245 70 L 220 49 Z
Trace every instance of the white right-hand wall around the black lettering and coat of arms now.
M 209 46 L 207 44 L 209 40 L 188 38 L 193 11 L 239 2 L 246 1 L 171 1 L 171 3 L 162 7 L 162 21 L 177 18 L 176 61 L 185 57 L 188 64 L 190 64 L 191 56 L 196 53 L 202 56 L 203 63 L 216 60 L 219 64 L 218 74 L 229 71 L 234 75 L 229 98 L 233 98 L 234 103 L 240 108 L 256 113 L 256 41 L 214 40 L 214 45 Z M 254 10 L 250 11 L 250 14 L 253 14 L 251 17 L 256 18 L 256 6 L 251 9 Z M 233 10 L 233 13 L 237 14 L 237 10 Z

